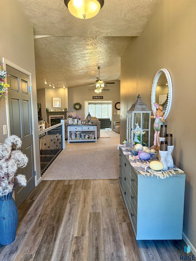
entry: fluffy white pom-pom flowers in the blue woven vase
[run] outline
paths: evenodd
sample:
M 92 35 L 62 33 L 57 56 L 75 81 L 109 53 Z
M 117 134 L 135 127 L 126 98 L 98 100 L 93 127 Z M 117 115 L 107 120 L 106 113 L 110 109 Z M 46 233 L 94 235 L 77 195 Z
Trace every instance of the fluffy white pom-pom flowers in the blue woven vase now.
M 26 177 L 22 174 L 18 174 L 14 182 L 17 169 L 26 167 L 28 163 L 27 156 L 20 150 L 21 144 L 21 139 L 15 135 L 0 144 L 0 196 L 7 195 L 18 185 L 27 185 Z

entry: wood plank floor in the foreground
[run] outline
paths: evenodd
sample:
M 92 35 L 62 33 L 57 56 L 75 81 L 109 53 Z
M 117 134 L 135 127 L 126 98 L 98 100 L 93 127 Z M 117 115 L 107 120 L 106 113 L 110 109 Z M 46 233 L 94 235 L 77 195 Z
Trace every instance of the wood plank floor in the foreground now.
M 145 219 L 144 219 L 145 222 Z M 183 240 L 135 240 L 118 180 L 41 181 L 1 261 L 180 260 Z

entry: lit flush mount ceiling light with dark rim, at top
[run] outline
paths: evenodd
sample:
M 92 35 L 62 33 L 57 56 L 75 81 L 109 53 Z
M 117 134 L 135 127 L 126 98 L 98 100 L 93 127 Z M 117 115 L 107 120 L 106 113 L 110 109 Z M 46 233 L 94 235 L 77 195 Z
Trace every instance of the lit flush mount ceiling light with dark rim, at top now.
M 104 0 L 64 0 L 70 13 L 81 19 L 96 16 L 104 5 Z

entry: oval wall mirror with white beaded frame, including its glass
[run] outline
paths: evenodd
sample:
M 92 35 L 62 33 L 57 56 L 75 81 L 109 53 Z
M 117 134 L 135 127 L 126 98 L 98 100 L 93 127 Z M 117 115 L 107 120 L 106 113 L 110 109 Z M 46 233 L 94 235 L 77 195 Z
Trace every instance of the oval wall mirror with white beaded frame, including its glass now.
M 154 103 L 163 107 L 164 119 L 168 117 L 172 101 L 171 76 L 167 69 L 160 69 L 156 73 L 151 91 L 151 107 L 153 114 L 156 113 Z

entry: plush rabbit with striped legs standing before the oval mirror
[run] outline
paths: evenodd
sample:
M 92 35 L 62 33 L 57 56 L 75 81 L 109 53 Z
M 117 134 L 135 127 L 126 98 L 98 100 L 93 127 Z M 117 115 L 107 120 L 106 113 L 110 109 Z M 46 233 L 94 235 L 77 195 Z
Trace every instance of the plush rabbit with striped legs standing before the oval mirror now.
M 156 149 L 156 147 L 160 147 L 160 143 L 159 143 L 159 133 L 160 133 L 160 126 L 163 125 L 164 120 L 164 116 L 163 116 L 163 107 L 160 106 L 158 103 L 154 103 L 154 106 L 156 107 L 157 111 L 155 116 L 150 116 L 150 118 L 155 118 L 154 121 L 154 130 L 155 130 L 155 134 L 154 134 L 154 145 L 151 147 L 153 149 Z M 156 145 L 157 144 L 157 145 Z

